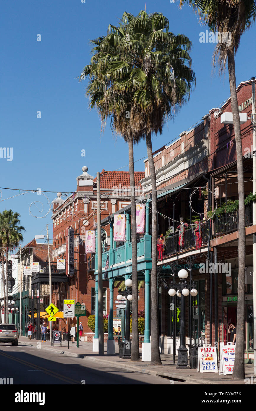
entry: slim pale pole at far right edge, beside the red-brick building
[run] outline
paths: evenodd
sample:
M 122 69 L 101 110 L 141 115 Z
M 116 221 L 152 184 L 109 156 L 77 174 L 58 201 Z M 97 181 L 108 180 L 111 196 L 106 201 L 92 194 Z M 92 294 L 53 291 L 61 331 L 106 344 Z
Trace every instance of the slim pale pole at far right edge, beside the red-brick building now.
M 251 78 L 252 94 L 252 188 L 253 194 L 256 194 L 256 115 L 255 115 L 255 78 Z M 256 202 L 253 201 L 253 225 L 256 225 Z M 253 234 L 253 310 L 254 310 L 254 375 L 256 376 L 256 234 Z

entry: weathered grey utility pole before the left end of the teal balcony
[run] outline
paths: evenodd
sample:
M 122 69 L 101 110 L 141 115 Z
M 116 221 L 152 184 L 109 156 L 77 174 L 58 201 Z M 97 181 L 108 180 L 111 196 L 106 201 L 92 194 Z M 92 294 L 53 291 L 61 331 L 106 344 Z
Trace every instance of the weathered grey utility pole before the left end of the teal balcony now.
M 102 289 L 102 254 L 101 254 L 101 217 L 100 217 L 100 185 L 97 173 L 97 240 L 98 240 L 98 318 L 99 318 L 99 356 L 104 356 L 103 327 L 103 289 Z

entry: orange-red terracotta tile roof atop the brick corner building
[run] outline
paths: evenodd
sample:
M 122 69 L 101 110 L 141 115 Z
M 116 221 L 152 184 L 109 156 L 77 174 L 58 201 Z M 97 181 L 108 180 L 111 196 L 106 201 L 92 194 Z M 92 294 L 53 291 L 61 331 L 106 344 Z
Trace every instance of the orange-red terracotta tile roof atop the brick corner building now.
M 141 187 L 139 181 L 144 178 L 144 171 L 134 171 L 134 181 L 137 187 Z M 97 177 L 93 181 L 97 181 Z M 100 187 L 112 188 L 121 184 L 122 186 L 129 187 L 130 174 L 129 171 L 101 171 L 100 175 Z

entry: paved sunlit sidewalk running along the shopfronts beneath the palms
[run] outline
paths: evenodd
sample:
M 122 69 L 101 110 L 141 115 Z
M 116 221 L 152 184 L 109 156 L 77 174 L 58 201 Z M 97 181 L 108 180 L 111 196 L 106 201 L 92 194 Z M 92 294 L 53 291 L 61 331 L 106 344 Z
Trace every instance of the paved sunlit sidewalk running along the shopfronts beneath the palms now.
M 96 352 L 92 351 L 92 343 L 90 342 L 79 342 L 79 347 L 77 348 L 77 342 L 72 344 L 69 342 L 69 349 L 67 341 L 62 341 L 62 346 L 51 347 L 50 342 L 41 342 L 35 339 L 28 340 L 27 337 L 19 337 L 19 346 L 35 346 L 52 352 L 63 353 L 65 355 L 74 356 L 76 358 L 90 359 L 95 362 L 100 362 L 111 367 L 125 368 L 130 371 L 143 372 L 145 374 L 165 376 L 168 379 L 173 379 L 174 381 L 183 381 L 186 384 L 214 384 L 214 385 L 244 385 L 244 380 L 232 381 L 231 375 L 219 375 L 219 372 L 208 372 L 199 373 L 197 369 L 186 369 L 180 370 L 176 369 L 178 356 L 175 356 L 175 364 L 173 364 L 173 356 L 170 354 L 161 354 L 162 365 L 152 366 L 149 361 L 141 361 L 138 363 L 132 363 L 130 360 L 125 360 L 119 358 L 118 344 L 115 344 L 115 355 L 98 356 Z M 107 344 L 104 344 L 105 353 L 107 351 Z M 141 350 L 140 350 L 141 351 Z M 218 364 L 219 369 L 219 364 Z M 245 365 L 245 378 L 251 378 L 254 374 L 254 365 Z

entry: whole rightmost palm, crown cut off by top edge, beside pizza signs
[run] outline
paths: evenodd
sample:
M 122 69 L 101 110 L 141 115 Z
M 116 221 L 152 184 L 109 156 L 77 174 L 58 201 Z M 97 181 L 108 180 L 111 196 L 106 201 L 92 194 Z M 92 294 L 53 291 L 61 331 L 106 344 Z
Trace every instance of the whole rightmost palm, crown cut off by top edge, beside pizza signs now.
M 208 24 L 212 32 L 231 35 L 228 41 L 219 42 L 214 50 L 214 63 L 219 64 L 223 72 L 228 63 L 228 76 L 231 95 L 231 110 L 235 133 L 237 167 L 238 167 L 238 312 L 235 362 L 232 379 L 244 379 L 244 324 L 245 324 L 245 218 L 244 218 L 244 172 L 243 153 L 240 131 L 240 116 L 235 81 L 235 54 L 238 51 L 242 34 L 252 25 L 256 18 L 255 0 L 180 0 L 180 7 L 189 4 L 200 20 Z

